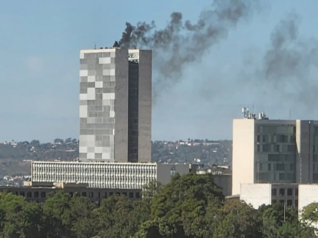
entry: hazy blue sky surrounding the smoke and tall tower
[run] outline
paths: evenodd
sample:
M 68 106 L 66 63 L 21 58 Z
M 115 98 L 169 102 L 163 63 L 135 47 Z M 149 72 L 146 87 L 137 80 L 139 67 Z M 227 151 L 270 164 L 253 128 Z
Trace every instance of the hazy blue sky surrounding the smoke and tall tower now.
M 196 21 L 211 2 L 2 1 L 0 140 L 78 138 L 79 50 L 92 49 L 94 44 L 112 46 L 126 21 L 155 20 L 160 29 L 173 11 Z M 242 117 L 243 106 L 265 111 L 271 119 L 289 119 L 290 110 L 293 119 L 318 119 L 317 9 L 317 0 L 260 1 L 252 17 L 239 21 L 226 39 L 185 65 L 177 83 L 159 92 L 153 105 L 153 140 L 231 139 L 232 119 Z M 296 65 L 297 70 L 291 71 L 301 80 L 280 81 L 279 72 L 263 80 L 272 32 L 290 14 L 297 15 L 299 34 L 287 48 L 301 63 L 289 66 Z M 308 54 L 302 55 L 304 51 Z M 272 67 L 284 65 L 276 62 Z M 154 81 L 155 74 L 154 66 Z

